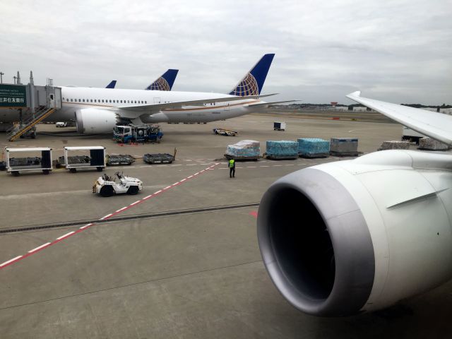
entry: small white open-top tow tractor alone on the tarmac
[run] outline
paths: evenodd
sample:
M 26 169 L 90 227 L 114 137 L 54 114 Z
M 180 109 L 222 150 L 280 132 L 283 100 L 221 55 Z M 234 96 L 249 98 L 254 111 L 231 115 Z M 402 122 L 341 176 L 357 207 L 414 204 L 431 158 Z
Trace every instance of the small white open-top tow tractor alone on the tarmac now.
M 112 196 L 114 194 L 138 194 L 138 191 L 143 190 L 143 182 L 140 179 L 126 177 L 123 174 L 116 172 L 116 177 L 109 177 L 107 174 L 99 177 L 93 186 L 93 193 L 101 196 Z

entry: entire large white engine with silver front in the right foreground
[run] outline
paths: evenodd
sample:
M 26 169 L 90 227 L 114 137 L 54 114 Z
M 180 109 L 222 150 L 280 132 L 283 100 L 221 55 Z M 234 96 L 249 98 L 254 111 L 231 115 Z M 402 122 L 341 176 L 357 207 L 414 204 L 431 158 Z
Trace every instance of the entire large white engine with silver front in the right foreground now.
M 386 150 L 279 179 L 258 210 L 273 283 L 297 309 L 348 316 L 452 278 L 452 157 Z

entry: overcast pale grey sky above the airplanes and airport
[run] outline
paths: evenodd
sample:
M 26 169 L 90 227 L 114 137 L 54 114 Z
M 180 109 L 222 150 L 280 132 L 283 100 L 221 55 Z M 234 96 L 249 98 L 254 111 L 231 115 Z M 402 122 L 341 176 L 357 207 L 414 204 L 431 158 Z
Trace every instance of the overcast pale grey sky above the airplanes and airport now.
M 0 71 L 23 83 L 229 93 L 275 53 L 275 100 L 452 104 L 452 0 L 0 0 Z M 270 101 L 270 100 L 268 100 Z

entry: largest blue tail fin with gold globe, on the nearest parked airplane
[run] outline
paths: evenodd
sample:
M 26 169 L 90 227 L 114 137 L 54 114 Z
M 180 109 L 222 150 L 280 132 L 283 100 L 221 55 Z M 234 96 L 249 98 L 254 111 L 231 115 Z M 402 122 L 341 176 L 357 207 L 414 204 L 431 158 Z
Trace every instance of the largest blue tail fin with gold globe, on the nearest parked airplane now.
M 265 54 L 229 94 L 239 97 L 261 94 L 273 57 L 275 57 L 275 54 Z

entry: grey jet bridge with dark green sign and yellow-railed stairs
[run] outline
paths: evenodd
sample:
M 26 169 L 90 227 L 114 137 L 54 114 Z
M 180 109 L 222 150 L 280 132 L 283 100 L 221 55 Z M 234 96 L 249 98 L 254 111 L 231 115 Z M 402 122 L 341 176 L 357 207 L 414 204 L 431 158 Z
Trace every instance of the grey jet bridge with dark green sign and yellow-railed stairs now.
M 16 78 L 16 77 L 15 77 Z M 20 79 L 20 76 L 17 77 Z M 8 141 L 15 141 L 24 136 L 36 136 L 36 124 L 61 108 L 61 88 L 54 87 L 52 79 L 47 85 L 37 86 L 33 83 L 0 84 L 0 109 L 15 109 L 19 112 L 18 122 L 9 125 L 6 131 Z

